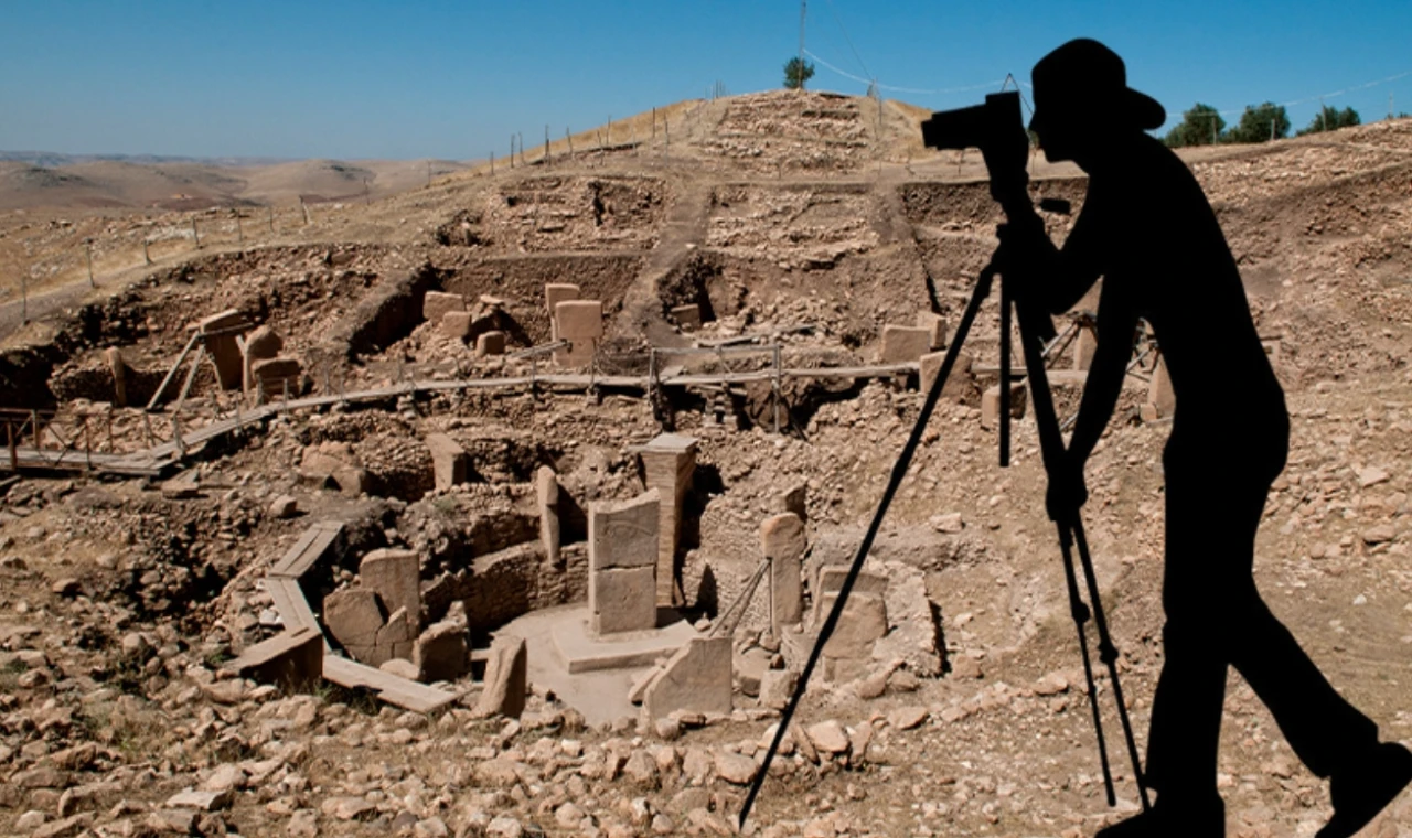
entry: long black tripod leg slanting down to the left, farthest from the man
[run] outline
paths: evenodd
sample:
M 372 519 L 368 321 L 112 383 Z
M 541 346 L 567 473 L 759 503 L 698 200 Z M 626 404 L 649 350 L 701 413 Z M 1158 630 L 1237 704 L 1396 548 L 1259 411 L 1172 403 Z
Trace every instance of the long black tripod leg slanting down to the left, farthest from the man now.
M 952 340 L 952 346 L 946 350 L 946 358 L 942 360 L 942 370 L 936 374 L 936 381 L 932 382 L 932 388 L 926 391 L 926 401 L 922 402 L 922 411 L 916 416 L 916 425 L 912 426 L 912 433 L 907 437 L 907 444 L 902 446 L 902 453 L 898 454 L 897 463 L 892 466 L 892 477 L 888 480 L 887 488 L 882 491 L 882 499 L 878 501 L 877 512 L 873 514 L 873 522 L 868 525 L 868 530 L 863 536 L 863 542 L 858 545 L 858 552 L 853 556 L 853 564 L 849 567 L 849 576 L 843 578 L 843 584 L 839 587 L 837 600 L 834 600 L 833 608 L 829 609 L 829 617 L 819 628 L 819 639 L 815 640 L 813 649 L 809 650 L 809 659 L 805 662 L 803 670 L 799 673 L 799 681 L 795 684 L 795 691 L 789 697 L 789 704 L 785 705 L 785 711 L 779 715 L 779 727 L 775 728 L 775 738 L 771 739 L 770 749 L 765 751 L 765 759 L 760 763 L 760 769 L 755 772 L 754 780 L 750 782 L 750 791 L 746 793 L 746 803 L 740 807 L 741 828 L 746 825 L 750 808 L 755 804 L 755 797 L 760 796 L 760 789 L 764 786 L 765 776 L 770 773 L 770 763 L 774 762 L 775 753 L 779 751 L 779 742 L 784 741 L 785 731 L 789 729 L 789 721 L 794 718 L 795 710 L 799 708 L 799 700 L 803 698 L 805 688 L 809 686 L 809 676 L 813 674 L 813 667 L 819 663 L 819 657 L 823 655 L 823 646 L 829 642 L 829 636 L 833 635 L 833 629 L 837 628 L 839 619 L 843 617 L 843 607 L 847 604 L 849 594 L 853 591 L 853 584 L 858 580 L 858 573 L 863 570 L 863 561 L 868 557 L 868 552 L 873 549 L 873 542 L 877 539 L 878 529 L 882 526 L 882 516 L 887 515 L 888 506 L 892 504 L 892 497 L 897 495 L 898 487 L 902 485 L 902 480 L 907 477 L 907 470 L 912 464 L 916 447 L 922 443 L 922 433 L 926 430 L 926 423 L 932 418 L 932 411 L 936 409 L 936 402 L 942 398 L 942 389 L 946 387 L 946 379 L 950 377 L 952 368 L 956 365 L 956 358 L 960 356 L 962 346 L 970 334 L 971 324 L 976 322 L 976 315 L 980 312 L 980 305 L 987 296 L 990 296 L 990 286 L 994 279 L 994 265 L 986 265 L 986 268 L 980 272 L 980 277 L 976 279 L 976 289 L 971 292 L 970 302 L 966 303 L 966 312 L 962 315 L 962 322 L 956 327 L 956 337 Z

